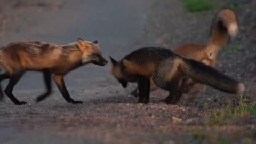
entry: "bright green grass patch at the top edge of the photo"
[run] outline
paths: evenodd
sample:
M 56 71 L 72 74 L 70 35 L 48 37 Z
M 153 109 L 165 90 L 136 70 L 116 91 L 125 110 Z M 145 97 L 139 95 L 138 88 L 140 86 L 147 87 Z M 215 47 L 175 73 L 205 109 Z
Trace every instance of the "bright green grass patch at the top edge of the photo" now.
M 211 0 L 181 0 L 189 12 L 200 12 L 218 7 L 218 4 Z

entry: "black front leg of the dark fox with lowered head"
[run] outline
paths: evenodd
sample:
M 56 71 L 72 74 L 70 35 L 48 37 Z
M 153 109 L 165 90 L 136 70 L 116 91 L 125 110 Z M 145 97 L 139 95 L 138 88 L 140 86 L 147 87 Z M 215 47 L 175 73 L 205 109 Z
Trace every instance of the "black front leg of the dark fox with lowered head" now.
M 149 102 L 150 79 L 145 76 L 138 76 L 139 100 L 138 103 Z

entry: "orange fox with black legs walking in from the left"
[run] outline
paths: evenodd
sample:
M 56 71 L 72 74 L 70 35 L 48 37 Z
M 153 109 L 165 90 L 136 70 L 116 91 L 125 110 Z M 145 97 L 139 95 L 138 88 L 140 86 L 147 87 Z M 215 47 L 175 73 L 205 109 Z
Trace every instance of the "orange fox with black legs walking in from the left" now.
M 63 77 L 71 70 L 93 63 L 104 66 L 108 61 L 102 57 L 98 41 L 93 43 L 78 38 L 74 45 L 57 45 L 43 42 L 15 42 L 0 49 L 0 64 L 6 73 L 0 75 L 0 81 L 10 79 L 4 90 L 15 105 L 26 104 L 12 94 L 13 87 L 27 70 L 42 71 L 47 92 L 37 97 L 42 101 L 51 94 L 51 76 L 58 86 L 62 96 L 69 103 L 82 103 L 73 100 L 65 86 Z M 2 95 L 1 90 L 1 97 Z

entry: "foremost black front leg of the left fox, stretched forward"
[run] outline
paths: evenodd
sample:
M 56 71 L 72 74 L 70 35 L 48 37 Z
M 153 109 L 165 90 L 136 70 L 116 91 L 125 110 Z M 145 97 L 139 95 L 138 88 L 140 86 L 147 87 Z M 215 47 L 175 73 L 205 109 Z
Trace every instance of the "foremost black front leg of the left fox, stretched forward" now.
M 55 83 L 57 84 L 58 86 L 58 89 L 60 90 L 62 96 L 64 97 L 64 99 L 69 102 L 69 103 L 73 103 L 73 104 L 76 104 L 76 103 L 83 103 L 82 101 L 75 101 L 73 100 L 69 93 L 68 93 L 68 90 L 67 90 L 67 87 L 64 83 L 64 79 L 63 79 L 64 75 L 63 74 L 55 74 L 53 79 L 55 81 Z

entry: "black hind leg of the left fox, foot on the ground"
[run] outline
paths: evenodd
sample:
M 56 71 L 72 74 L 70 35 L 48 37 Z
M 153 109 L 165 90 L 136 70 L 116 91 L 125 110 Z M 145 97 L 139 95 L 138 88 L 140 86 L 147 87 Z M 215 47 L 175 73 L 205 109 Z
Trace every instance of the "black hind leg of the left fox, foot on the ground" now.
M 14 95 L 12 94 L 13 91 L 13 87 L 19 82 L 21 76 L 23 75 L 22 73 L 18 73 L 15 75 L 10 76 L 10 81 L 8 83 L 8 85 L 6 86 L 4 92 L 7 95 L 7 97 L 9 97 L 11 99 L 11 101 L 15 104 L 15 105 L 23 105 L 26 104 L 27 102 L 25 101 L 19 101 L 18 99 L 16 99 L 14 97 Z

